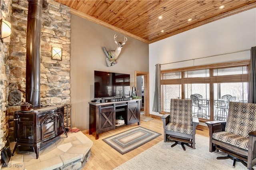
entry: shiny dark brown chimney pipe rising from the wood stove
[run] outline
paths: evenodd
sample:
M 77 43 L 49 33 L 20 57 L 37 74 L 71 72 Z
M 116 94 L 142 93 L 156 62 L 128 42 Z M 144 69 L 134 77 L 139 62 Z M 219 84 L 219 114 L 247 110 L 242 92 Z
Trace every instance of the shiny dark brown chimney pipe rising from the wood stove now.
M 26 102 L 40 108 L 40 41 L 42 0 L 28 0 L 26 41 Z

